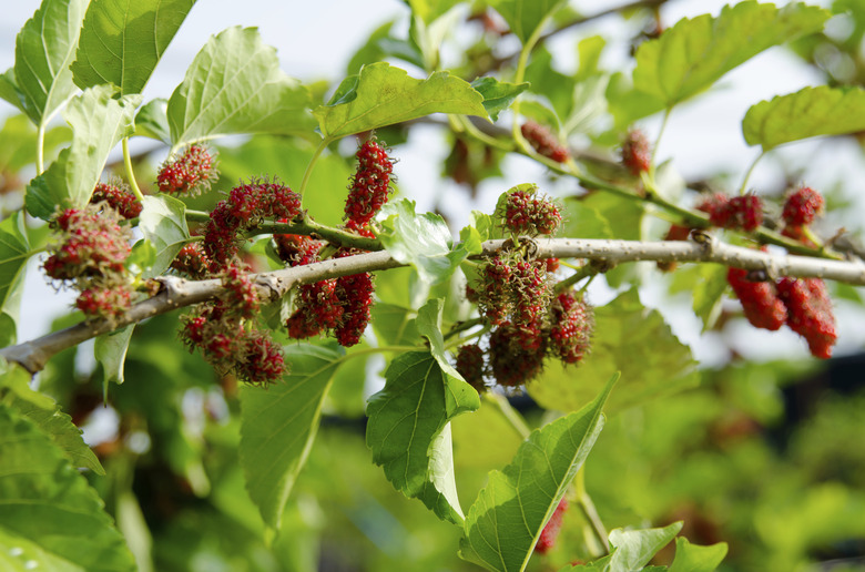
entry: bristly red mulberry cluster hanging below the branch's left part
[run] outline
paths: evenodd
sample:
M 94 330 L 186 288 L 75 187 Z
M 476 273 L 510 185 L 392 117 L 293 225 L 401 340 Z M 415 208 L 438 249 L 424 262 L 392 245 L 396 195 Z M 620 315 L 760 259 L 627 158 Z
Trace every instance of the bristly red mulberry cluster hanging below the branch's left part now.
M 220 297 L 183 317 L 181 338 L 222 374 L 233 372 L 255 385 L 277 381 L 286 372 L 285 360 L 269 331 L 253 325 L 261 304 L 255 285 L 235 265 L 221 278 Z

